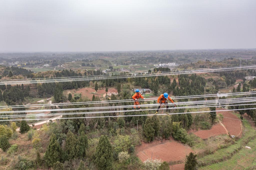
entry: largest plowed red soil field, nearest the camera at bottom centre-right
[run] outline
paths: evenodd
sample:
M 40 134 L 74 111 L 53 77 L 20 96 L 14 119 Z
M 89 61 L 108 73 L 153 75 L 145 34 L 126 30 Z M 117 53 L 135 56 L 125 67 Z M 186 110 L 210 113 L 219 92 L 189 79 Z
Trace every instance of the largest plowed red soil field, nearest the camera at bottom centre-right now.
M 186 155 L 193 152 L 190 147 L 186 147 L 176 141 L 169 140 L 155 145 L 144 144 L 144 146 L 137 148 L 136 151 L 137 156 L 142 162 L 147 159 L 151 159 L 151 155 L 152 160 L 161 159 L 166 162 L 185 160 Z

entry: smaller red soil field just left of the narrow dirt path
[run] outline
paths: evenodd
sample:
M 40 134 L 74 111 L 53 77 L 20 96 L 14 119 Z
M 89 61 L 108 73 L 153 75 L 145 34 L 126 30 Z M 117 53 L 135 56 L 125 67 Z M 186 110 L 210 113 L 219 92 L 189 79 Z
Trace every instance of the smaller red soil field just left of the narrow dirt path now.
M 210 130 L 198 130 L 197 132 L 193 132 L 193 133 L 201 139 L 207 139 L 211 136 L 227 134 L 227 131 L 220 124 L 216 124 L 216 125 L 212 126 L 212 128 Z

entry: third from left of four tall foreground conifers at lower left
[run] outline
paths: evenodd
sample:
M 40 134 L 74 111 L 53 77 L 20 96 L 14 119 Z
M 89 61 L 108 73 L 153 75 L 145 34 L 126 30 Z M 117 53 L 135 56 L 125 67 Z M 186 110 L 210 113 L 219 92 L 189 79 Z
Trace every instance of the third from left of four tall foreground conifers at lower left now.
M 88 148 L 88 138 L 82 131 L 77 140 L 77 152 L 76 156 L 83 158 L 86 156 L 86 149 Z

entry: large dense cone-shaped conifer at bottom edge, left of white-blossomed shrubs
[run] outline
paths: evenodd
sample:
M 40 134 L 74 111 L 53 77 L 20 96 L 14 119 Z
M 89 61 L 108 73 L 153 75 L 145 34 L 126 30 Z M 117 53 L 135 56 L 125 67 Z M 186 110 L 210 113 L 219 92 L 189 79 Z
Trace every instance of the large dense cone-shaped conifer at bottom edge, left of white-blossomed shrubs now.
M 100 170 L 112 169 L 113 151 L 109 139 L 106 135 L 102 135 L 100 137 L 94 154 L 94 161 Z

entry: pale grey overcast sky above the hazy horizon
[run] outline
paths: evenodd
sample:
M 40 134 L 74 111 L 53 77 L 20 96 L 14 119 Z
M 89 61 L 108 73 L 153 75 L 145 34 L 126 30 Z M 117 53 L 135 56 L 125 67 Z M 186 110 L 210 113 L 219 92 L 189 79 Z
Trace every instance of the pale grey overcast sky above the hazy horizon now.
M 0 51 L 256 48 L 255 0 L 0 0 Z

